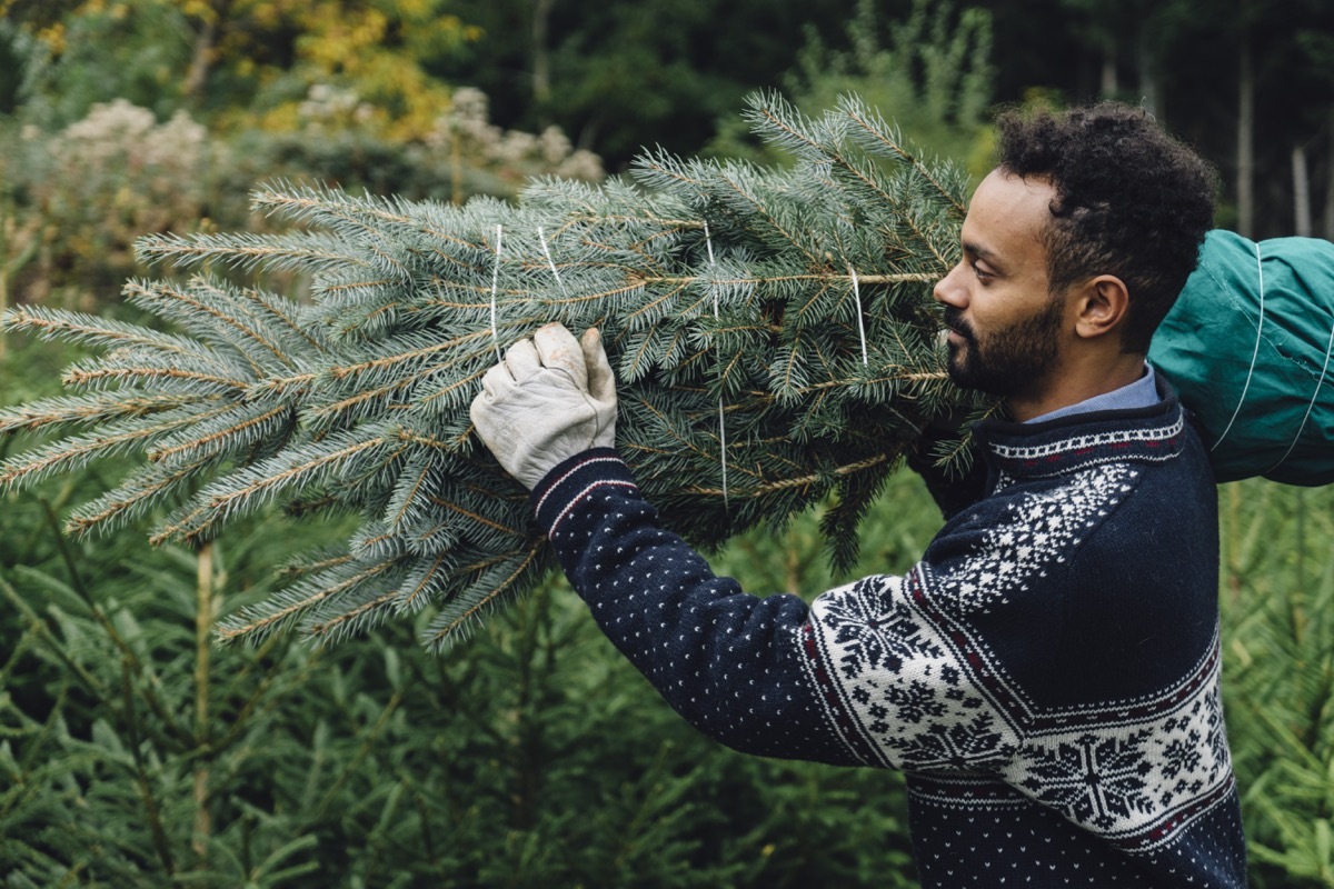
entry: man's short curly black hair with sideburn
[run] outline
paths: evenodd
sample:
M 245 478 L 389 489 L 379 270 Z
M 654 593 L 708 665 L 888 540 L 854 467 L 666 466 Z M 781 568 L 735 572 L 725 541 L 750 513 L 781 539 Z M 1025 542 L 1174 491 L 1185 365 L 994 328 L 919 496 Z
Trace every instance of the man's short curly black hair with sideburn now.
M 1121 103 L 1009 111 L 996 131 L 1002 171 L 1055 188 L 1045 232 L 1051 289 L 1115 275 L 1130 292 L 1122 348 L 1147 352 L 1213 227 L 1218 173 Z

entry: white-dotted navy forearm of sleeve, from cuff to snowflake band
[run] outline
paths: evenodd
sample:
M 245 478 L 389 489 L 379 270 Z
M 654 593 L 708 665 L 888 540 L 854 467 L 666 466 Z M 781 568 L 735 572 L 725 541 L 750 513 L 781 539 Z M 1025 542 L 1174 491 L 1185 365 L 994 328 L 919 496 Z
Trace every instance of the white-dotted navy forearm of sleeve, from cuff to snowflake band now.
M 607 637 L 691 725 L 762 756 L 839 765 L 856 757 L 803 665 L 808 609 L 716 577 L 658 513 L 612 449 L 576 454 L 532 492 L 571 585 Z

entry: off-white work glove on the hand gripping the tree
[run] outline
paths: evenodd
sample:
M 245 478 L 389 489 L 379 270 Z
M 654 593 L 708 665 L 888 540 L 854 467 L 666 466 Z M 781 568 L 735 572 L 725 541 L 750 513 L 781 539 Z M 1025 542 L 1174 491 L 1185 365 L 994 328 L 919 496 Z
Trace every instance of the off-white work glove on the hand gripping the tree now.
M 470 411 L 506 472 L 532 490 L 564 460 L 616 444 L 616 380 L 598 328 L 575 340 L 554 323 L 482 377 Z

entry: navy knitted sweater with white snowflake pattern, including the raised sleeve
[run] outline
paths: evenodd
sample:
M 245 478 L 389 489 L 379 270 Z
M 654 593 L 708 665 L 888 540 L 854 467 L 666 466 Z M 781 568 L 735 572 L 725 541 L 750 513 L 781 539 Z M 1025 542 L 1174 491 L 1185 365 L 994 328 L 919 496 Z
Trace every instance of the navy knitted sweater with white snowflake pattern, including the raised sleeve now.
M 702 732 L 903 769 L 923 886 L 1243 886 L 1217 494 L 1179 404 L 978 439 L 980 498 L 923 558 L 810 606 L 715 577 L 611 449 L 532 505 L 598 624 Z

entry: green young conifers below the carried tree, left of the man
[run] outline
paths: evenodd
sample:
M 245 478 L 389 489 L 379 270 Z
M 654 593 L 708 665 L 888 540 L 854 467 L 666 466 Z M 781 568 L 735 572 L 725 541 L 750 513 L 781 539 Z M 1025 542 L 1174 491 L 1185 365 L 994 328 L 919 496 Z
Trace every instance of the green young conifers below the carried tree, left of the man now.
M 71 357 L 28 347 L 0 369 L 41 396 Z M 0 885 L 914 885 L 896 774 L 703 738 L 564 584 L 443 658 L 408 625 L 216 648 L 213 621 L 334 529 L 261 516 L 207 550 L 61 537 L 55 513 L 100 484 L 0 510 Z M 886 497 L 886 516 L 934 509 L 908 476 Z M 784 584 L 819 592 L 838 578 L 816 524 L 750 534 L 719 568 L 766 592 L 754 568 L 791 553 Z M 856 570 L 923 542 L 896 540 Z

